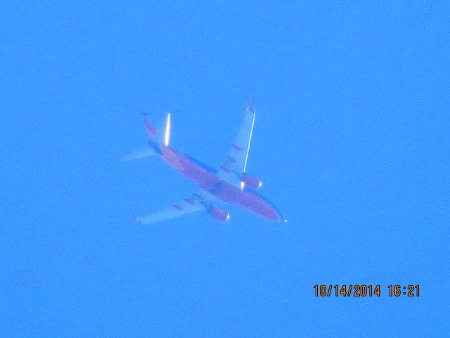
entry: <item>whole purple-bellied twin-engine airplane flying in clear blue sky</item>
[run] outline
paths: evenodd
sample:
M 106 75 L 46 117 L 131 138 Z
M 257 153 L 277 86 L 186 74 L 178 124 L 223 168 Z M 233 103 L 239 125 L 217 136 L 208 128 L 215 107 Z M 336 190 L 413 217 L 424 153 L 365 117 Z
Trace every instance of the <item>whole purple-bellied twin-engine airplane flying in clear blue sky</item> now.
M 144 124 L 148 133 L 146 149 L 134 151 L 124 156 L 123 161 L 159 155 L 162 160 L 182 175 L 193 180 L 200 188 L 177 203 L 171 204 L 165 210 L 151 213 L 134 219 L 143 224 L 160 222 L 196 211 L 206 211 L 212 218 L 226 222 L 230 214 L 221 208 L 222 204 L 237 204 L 252 213 L 267 220 L 287 222 L 269 201 L 257 194 L 256 190 L 262 186 L 262 181 L 246 173 L 250 143 L 252 141 L 253 126 L 255 125 L 255 109 L 246 99 L 245 118 L 236 141 L 231 144 L 231 150 L 226 161 L 218 170 L 213 170 L 200 161 L 177 151 L 169 145 L 171 130 L 171 114 L 167 114 L 165 131 L 161 142 L 157 142 L 157 131 L 144 114 Z M 162 135 L 161 135 L 162 136 Z

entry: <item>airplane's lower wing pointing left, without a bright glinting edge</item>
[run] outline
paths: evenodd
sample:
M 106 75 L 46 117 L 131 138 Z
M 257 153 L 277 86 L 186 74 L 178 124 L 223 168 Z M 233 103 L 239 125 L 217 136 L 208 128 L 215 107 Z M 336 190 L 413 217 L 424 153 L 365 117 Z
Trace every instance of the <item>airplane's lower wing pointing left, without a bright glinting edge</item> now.
M 181 199 L 178 203 L 171 204 L 162 211 L 150 213 L 150 215 L 143 217 L 134 216 L 134 218 L 142 224 L 160 222 L 162 220 L 187 215 L 188 213 L 195 213 L 195 211 L 206 210 L 216 201 L 217 199 L 214 198 L 214 196 L 207 194 L 206 192 L 197 192 L 192 194 L 191 197 Z

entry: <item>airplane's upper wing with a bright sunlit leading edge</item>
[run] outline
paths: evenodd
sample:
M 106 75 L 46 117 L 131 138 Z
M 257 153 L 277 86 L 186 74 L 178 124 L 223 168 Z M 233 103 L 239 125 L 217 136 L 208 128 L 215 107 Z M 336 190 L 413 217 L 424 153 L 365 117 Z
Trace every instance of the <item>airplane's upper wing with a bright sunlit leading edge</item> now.
M 226 156 L 224 165 L 221 165 L 217 172 L 217 177 L 236 187 L 240 187 L 240 176 L 245 173 L 247 168 L 253 125 L 255 125 L 255 110 L 247 100 L 245 118 L 236 137 L 236 141 L 231 144 L 231 151 Z

